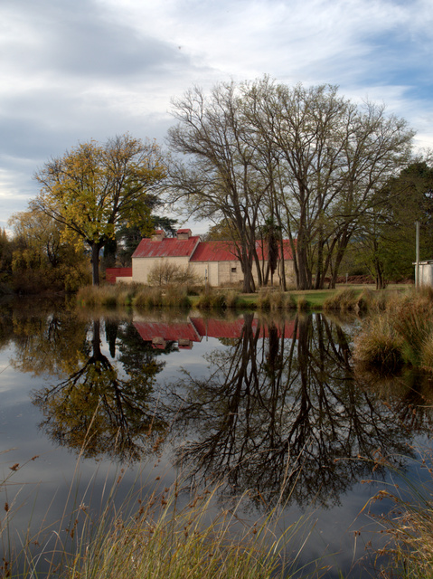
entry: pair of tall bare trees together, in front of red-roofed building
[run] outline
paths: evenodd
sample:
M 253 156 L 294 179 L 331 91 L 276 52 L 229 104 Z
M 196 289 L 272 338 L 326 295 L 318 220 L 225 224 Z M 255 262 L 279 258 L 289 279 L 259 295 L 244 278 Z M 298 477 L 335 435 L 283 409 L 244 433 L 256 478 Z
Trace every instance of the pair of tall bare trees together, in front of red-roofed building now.
M 188 90 L 174 117 L 169 143 L 186 161 L 171 171 L 173 198 L 240 240 L 244 291 L 254 289 L 254 264 L 262 282 L 255 241 L 265 223 L 291 240 L 299 289 L 335 280 L 377 192 L 409 163 L 414 135 L 383 106 L 354 104 L 334 86 L 268 77 Z

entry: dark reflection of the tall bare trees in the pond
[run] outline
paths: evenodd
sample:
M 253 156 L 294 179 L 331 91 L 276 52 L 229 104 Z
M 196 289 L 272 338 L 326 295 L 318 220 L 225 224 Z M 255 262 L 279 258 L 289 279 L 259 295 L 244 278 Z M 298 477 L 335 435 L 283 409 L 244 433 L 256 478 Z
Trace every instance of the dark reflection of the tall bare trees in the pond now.
M 268 503 L 331 505 L 381 471 L 375 458 L 408 453 L 394 415 L 354 384 L 340 325 L 297 317 L 287 339 L 288 322 L 252 321 L 245 315 L 237 343 L 207 356 L 209 375 L 186 373 L 170 389 L 166 412 L 190 438 L 178 460 L 194 479 L 225 479 L 228 489 L 255 489 Z

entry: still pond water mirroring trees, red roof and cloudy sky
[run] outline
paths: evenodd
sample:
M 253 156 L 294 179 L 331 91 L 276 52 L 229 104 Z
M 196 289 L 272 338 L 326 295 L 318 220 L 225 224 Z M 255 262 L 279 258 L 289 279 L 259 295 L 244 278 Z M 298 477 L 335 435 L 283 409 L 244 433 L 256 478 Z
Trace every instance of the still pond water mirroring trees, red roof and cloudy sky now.
M 426 479 L 414 459 L 430 445 L 428 378 L 357 369 L 358 319 L 0 308 L 0 504 L 13 541 L 72 502 L 100 507 L 121 470 L 118 500 L 182 476 L 191 489 L 220 481 L 216 510 L 248 491 L 251 521 L 283 503 L 281 529 L 306 520 L 299 566 L 359 575 L 390 507 L 370 498 L 395 470 Z

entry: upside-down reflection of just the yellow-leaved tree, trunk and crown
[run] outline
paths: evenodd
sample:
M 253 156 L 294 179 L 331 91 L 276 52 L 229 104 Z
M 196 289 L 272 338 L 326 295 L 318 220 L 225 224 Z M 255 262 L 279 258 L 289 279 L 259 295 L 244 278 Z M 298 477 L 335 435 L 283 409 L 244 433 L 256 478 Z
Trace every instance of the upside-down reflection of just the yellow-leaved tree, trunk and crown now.
M 152 401 L 161 365 L 147 356 L 137 360 L 126 354 L 122 373 L 101 352 L 99 320 L 93 320 L 89 349 L 83 352 L 65 380 L 33 393 L 33 403 L 46 417 L 42 429 L 86 457 L 105 453 L 138 460 L 155 446 L 155 437 L 164 437 L 167 427 Z

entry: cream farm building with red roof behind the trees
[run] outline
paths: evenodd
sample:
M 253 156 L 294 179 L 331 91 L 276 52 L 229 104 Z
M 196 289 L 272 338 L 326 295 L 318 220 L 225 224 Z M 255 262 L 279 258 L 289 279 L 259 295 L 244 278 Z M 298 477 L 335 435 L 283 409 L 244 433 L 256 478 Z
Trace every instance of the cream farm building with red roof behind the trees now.
M 193 235 L 190 229 L 180 229 L 176 237 L 165 237 L 158 230 L 150 239 L 143 239 L 132 255 L 131 275 L 117 275 L 110 269 L 108 275 L 117 281 L 137 281 L 148 283 L 149 275 L 165 265 L 176 266 L 192 273 L 201 283 L 213 287 L 230 286 L 243 280 L 240 261 L 236 255 L 236 242 L 202 242 L 199 235 Z M 259 267 L 264 273 L 268 268 L 267 247 L 256 242 Z M 283 242 L 284 271 L 287 283 L 294 279 L 293 259 L 288 240 Z M 282 277 L 281 251 L 278 258 L 274 284 L 279 285 Z M 257 265 L 253 265 L 254 280 L 258 280 Z

